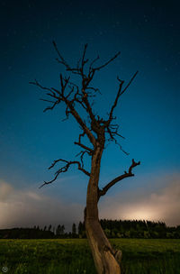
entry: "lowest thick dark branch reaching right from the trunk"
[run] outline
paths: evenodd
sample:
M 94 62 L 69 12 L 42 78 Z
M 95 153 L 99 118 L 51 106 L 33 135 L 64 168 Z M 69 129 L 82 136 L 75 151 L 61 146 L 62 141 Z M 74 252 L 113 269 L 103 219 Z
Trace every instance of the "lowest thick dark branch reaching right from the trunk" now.
M 132 159 L 132 163 L 130 165 L 130 168 L 129 168 L 128 172 L 124 171 L 124 174 L 112 179 L 112 181 L 109 182 L 105 187 L 103 187 L 103 189 L 99 189 L 98 200 L 100 199 L 101 196 L 105 195 L 106 192 L 112 186 L 114 186 L 117 182 L 121 181 L 123 178 L 128 178 L 128 177 L 134 176 L 134 174 L 132 173 L 132 169 L 135 168 L 136 166 L 139 166 L 139 164 L 140 164 L 140 161 L 135 162 L 135 160 Z

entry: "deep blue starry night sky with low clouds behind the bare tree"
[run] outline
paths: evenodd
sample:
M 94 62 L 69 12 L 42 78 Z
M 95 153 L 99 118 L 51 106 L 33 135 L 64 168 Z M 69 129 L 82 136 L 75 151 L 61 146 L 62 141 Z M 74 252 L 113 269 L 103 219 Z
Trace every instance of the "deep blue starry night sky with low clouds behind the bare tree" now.
M 53 160 L 76 159 L 73 142 L 80 132 L 73 118 L 61 122 L 63 105 L 43 113 L 43 92 L 29 84 L 36 78 L 59 87 L 65 69 L 55 60 L 52 41 L 72 66 L 86 42 L 87 57 L 99 54 L 98 64 L 121 51 L 94 78 L 102 95 L 93 107 L 104 118 L 118 90 L 117 76 L 128 83 L 139 70 L 115 110 L 126 138 L 121 146 L 130 155 L 115 144 L 107 147 L 100 186 L 128 169 L 132 158 L 141 165 L 134 178 L 102 198 L 100 217 L 180 224 L 178 1 L 0 1 L 0 18 L 0 228 L 68 228 L 83 218 L 88 178 L 76 168 L 39 189 L 53 176 Z

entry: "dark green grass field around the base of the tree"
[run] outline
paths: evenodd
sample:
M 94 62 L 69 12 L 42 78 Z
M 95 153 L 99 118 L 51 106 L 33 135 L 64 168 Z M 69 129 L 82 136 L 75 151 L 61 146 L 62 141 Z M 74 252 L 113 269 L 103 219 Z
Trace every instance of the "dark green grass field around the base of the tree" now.
M 124 274 L 180 274 L 180 240 L 112 239 Z M 0 273 L 93 274 L 85 239 L 0 240 Z

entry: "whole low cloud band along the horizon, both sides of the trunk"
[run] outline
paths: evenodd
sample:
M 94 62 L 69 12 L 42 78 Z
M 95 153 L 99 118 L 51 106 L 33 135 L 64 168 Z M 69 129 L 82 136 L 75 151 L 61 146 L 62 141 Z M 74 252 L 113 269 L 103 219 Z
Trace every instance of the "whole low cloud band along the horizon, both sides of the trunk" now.
M 176 176 L 154 193 L 142 193 L 139 189 L 103 197 L 100 217 L 164 221 L 168 225 L 177 225 L 180 224 L 179 197 L 180 180 Z M 73 222 L 83 219 L 84 206 L 62 202 L 60 196 L 45 196 L 38 190 L 15 189 L 0 181 L 0 228 L 65 224 L 69 230 Z

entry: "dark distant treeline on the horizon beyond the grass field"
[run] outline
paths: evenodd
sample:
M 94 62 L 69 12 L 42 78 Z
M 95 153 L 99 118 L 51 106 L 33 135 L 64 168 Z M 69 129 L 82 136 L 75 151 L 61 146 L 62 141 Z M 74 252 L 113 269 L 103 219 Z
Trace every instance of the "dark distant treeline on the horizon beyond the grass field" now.
M 180 225 L 166 226 L 162 222 L 151 221 L 100 221 L 104 233 L 108 238 L 144 238 L 144 239 L 180 239 Z M 57 227 L 34 226 L 33 228 L 0 229 L 0 239 L 58 239 L 58 238 L 86 238 L 85 224 L 79 222 L 72 225 L 72 231 L 65 232 L 65 225 Z

